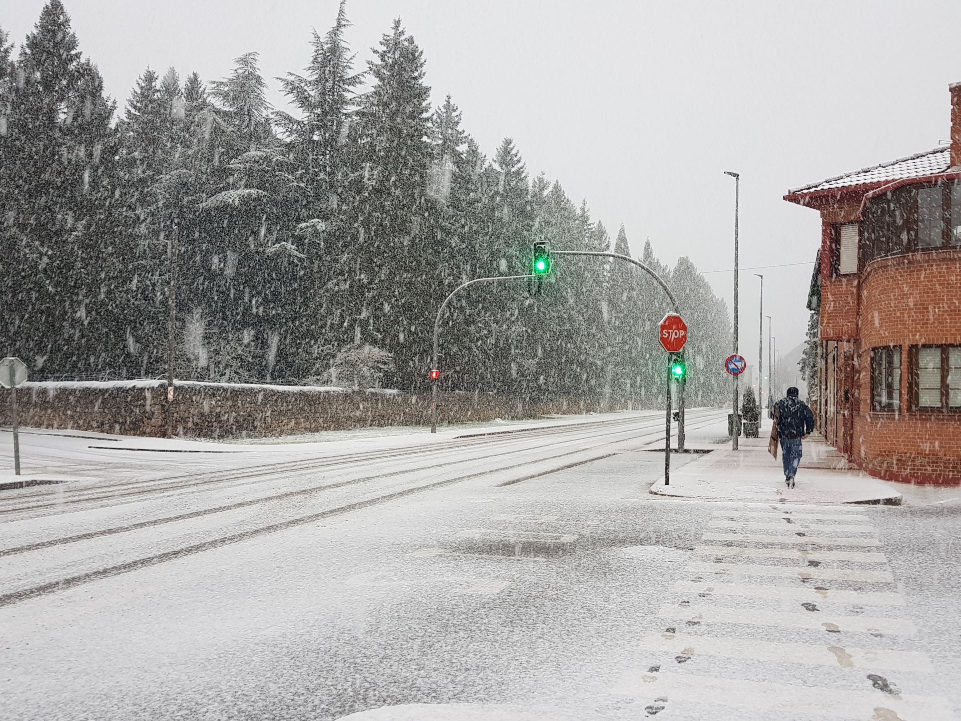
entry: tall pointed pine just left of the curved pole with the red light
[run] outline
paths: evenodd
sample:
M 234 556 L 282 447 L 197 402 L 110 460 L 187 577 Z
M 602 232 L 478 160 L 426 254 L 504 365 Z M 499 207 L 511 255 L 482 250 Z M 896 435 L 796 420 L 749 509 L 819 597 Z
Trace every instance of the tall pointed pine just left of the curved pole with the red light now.
M 423 382 L 431 334 L 432 304 L 416 291 L 433 272 L 421 234 L 431 162 L 430 87 L 424 85 L 423 53 L 400 19 L 373 53 L 368 72 L 374 85 L 357 112 L 357 235 L 348 249 L 348 303 L 357 339 L 393 353 L 395 379 L 410 386 Z

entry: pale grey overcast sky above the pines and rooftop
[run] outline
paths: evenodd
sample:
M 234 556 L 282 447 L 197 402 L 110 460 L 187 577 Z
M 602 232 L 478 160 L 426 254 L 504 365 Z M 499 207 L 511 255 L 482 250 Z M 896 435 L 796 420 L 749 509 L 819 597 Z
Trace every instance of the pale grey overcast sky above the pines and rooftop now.
M 256 50 L 268 79 L 308 62 L 336 0 L 64 0 L 86 57 L 122 108 L 146 66 L 228 73 Z M 44 0 L 3 0 L 20 43 Z M 733 298 L 734 182 L 741 174 L 740 350 L 757 356 L 758 280 L 782 356 L 804 336 L 820 242 L 790 187 L 936 147 L 961 80 L 961 3 L 352 0 L 358 61 L 401 17 L 489 156 L 513 137 L 639 254 L 688 256 Z M 282 107 L 279 84 L 270 99 Z M 752 270 L 753 266 L 801 263 Z M 765 346 L 767 326 L 765 325 Z M 765 351 L 766 353 L 766 351 Z

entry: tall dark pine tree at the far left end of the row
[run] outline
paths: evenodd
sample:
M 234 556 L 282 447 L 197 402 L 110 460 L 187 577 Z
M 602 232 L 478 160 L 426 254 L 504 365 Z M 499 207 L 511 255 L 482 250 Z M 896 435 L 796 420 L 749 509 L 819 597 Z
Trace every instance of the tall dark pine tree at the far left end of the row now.
M 60 0 L 43 8 L 14 76 L 0 162 L 0 301 L 11 311 L 0 336 L 35 371 L 108 369 L 122 356 L 111 312 L 124 307 L 126 265 L 111 208 L 113 103 Z

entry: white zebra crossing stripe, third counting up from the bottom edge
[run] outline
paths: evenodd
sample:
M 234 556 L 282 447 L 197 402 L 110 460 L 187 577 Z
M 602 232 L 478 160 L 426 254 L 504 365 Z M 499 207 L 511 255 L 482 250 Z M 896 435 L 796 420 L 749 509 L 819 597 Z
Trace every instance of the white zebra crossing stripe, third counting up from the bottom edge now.
M 824 611 L 782 611 L 765 609 L 732 609 L 713 606 L 665 606 L 657 611 L 658 618 L 679 619 L 689 625 L 701 623 L 738 623 L 749 626 L 773 626 L 781 629 L 813 629 L 825 633 L 884 634 L 914 637 L 918 630 L 914 624 L 902 618 L 877 618 L 874 616 L 846 616 Z

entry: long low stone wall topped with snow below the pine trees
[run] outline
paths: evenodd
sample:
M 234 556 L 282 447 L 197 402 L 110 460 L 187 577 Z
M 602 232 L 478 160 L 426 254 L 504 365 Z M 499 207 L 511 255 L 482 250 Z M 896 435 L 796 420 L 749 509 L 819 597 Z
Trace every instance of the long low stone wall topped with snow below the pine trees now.
M 11 425 L 10 393 L 0 388 L 0 425 Z M 295 385 L 179 382 L 167 403 L 163 381 L 27 382 L 17 388 L 20 425 L 119 435 L 244 437 L 431 423 L 430 393 Z M 439 423 L 535 418 L 599 410 L 569 400 L 521 403 L 490 393 L 440 393 Z

